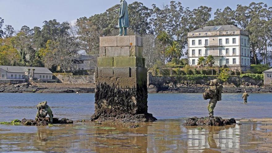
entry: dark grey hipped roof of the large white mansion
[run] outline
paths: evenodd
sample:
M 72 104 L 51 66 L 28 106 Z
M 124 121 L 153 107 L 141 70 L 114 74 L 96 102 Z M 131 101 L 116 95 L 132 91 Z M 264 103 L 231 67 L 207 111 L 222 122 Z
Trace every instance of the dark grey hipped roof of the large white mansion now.
M 221 26 L 206 26 L 191 32 L 232 31 L 232 30 L 243 30 L 243 29 L 238 28 L 234 25 L 221 25 Z

